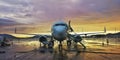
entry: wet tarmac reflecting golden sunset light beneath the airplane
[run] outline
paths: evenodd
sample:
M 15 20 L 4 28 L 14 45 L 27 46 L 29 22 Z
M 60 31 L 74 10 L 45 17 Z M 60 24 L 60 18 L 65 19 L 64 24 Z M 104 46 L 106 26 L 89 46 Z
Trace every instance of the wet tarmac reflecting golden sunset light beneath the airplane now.
M 102 44 L 94 40 L 83 41 L 86 50 L 78 43 L 70 47 L 64 41 L 62 50 L 40 46 L 38 41 L 13 41 L 9 47 L 0 47 L 0 60 L 120 60 L 120 44 Z

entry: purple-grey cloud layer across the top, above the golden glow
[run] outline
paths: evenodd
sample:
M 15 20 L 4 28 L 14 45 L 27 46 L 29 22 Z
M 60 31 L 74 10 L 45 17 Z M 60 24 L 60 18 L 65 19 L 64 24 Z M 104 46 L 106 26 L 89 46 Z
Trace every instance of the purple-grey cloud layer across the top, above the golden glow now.
M 114 9 L 119 11 L 119 5 L 119 0 L 1 0 L 0 17 L 31 24 L 66 17 L 108 16 L 116 13 Z

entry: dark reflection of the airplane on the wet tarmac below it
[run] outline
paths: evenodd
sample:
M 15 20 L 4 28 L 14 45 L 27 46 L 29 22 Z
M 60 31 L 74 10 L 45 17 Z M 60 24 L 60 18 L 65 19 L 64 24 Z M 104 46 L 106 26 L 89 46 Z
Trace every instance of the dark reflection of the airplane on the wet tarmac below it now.
M 71 59 L 76 59 L 76 57 L 79 56 L 81 53 L 81 51 L 76 46 L 74 48 L 68 46 L 67 49 L 64 49 L 63 46 L 62 49 L 60 48 L 54 49 L 54 48 L 47 48 L 47 46 L 41 46 L 39 47 L 38 51 L 39 53 L 43 53 L 43 54 L 51 53 L 53 55 L 53 60 L 69 60 L 69 58 L 71 58 L 69 56 L 70 53 L 75 53 L 74 55 L 72 55 L 73 58 Z

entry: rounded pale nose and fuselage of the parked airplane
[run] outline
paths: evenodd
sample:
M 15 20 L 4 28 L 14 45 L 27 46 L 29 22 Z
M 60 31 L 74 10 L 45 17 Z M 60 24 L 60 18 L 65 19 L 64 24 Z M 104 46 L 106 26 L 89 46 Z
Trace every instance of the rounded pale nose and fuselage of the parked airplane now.
M 68 35 L 68 25 L 65 22 L 57 22 L 52 26 L 52 36 L 58 41 L 63 41 Z

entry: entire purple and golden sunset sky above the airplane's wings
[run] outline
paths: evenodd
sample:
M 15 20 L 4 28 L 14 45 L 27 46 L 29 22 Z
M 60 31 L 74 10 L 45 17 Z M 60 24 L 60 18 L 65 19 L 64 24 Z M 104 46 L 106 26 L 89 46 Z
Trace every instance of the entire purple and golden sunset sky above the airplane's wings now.
M 76 32 L 120 31 L 120 0 L 0 0 L 0 33 L 50 32 L 59 20 Z

